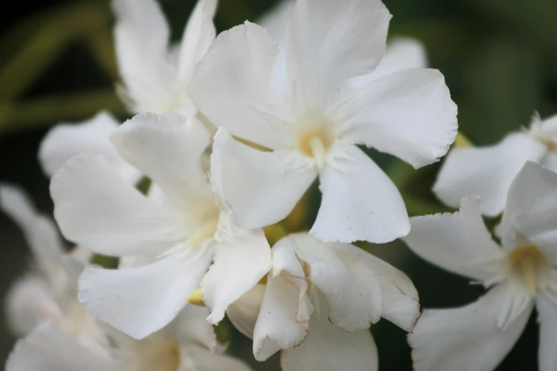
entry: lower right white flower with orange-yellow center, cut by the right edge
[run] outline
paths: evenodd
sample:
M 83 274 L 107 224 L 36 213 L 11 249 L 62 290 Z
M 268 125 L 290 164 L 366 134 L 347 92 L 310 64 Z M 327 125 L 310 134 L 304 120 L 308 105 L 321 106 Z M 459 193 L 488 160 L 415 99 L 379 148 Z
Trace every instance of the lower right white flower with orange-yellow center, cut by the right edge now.
M 554 371 L 557 334 L 557 174 L 528 162 L 511 184 L 502 245 L 484 226 L 479 198 L 460 212 L 411 219 L 410 249 L 449 271 L 493 286 L 462 308 L 425 310 L 408 336 L 416 371 L 494 370 L 519 338 L 534 304 L 541 371 Z

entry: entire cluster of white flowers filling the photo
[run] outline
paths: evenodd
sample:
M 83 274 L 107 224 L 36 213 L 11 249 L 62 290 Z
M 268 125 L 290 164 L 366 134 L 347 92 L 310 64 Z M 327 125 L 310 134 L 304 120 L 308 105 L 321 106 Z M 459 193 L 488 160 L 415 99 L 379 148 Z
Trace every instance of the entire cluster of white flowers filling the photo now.
M 493 370 L 534 303 L 540 368 L 557 370 L 555 118 L 450 151 L 433 190 L 460 211 L 409 218 L 365 148 L 435 163 L 457 107 L 419 43 L 386 42 L 381 0 L 287 1 L 218 36 L 216 0 L 199 0 L 176 45 L 155 0 L 112 4 L 134 116 L 61 124 L 38 154 L 72 251 L 0 187 L 36 266 L 7 298 L 21 340 L 6 370 L 249 370 L 216 340 L 225 316 L 283 371 L 378 370 L 381 318 L 410 332 L 417 371 Z M 317 217 L 292 227 L 316 181 Z M 499 244 L 482 213 L 502 212 Z M 420 317 L 408 276 L 352 244 L 398 238 L 489 291 Z

